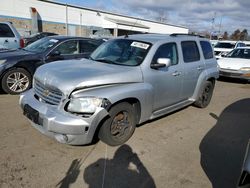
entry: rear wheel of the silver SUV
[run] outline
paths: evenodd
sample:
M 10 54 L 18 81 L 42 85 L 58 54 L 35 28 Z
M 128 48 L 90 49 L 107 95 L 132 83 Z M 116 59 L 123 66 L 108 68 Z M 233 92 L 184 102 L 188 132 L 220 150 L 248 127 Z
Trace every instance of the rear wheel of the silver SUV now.
M 194 103 L 194 106 L 206 108 L 211 101 L 213 90 L 214 84 L 211 81 L 206 81 L 202 90 L 200 91 L 198 100 Z

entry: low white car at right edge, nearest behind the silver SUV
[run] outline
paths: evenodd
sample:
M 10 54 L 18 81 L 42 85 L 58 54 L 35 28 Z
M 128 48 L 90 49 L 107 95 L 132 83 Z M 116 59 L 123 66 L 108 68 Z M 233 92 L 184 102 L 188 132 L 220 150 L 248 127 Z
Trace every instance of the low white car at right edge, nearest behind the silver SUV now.
M 236 48 L 217 62 L 220 76 L 250 81 L 250 47 Z

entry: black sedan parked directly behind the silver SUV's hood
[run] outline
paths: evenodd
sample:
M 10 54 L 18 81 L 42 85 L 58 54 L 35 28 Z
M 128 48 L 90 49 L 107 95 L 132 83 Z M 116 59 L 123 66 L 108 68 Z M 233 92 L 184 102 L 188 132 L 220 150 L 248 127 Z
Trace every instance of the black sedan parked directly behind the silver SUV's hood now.
M 23 49 L 0 52 L 0 81 L 9 94 L 29 89 L 37 67 L 57 60 L 89 57 L 103 40 L 52 36 L 42 38 Z

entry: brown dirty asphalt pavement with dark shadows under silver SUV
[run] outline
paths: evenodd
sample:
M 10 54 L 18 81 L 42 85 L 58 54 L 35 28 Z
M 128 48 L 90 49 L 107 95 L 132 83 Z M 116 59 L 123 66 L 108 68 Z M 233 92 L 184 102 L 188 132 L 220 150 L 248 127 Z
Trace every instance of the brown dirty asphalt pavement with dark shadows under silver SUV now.
M 0 94 L 0 187 L 235 188 L 250 136 L 250 84 L 217 81 L 210 105 L 139 126 L 124 145 L 69 146 Z

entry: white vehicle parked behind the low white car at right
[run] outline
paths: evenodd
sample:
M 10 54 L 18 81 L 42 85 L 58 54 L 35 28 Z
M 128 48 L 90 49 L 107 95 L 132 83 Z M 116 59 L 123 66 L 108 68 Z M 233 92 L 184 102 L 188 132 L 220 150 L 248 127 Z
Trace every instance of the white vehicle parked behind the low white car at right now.
M 214 45 L 214 54 L 216 59 L 227 55 L 234 48 L 245 47 L 246 44 L 241 41 L 218 41 Z

